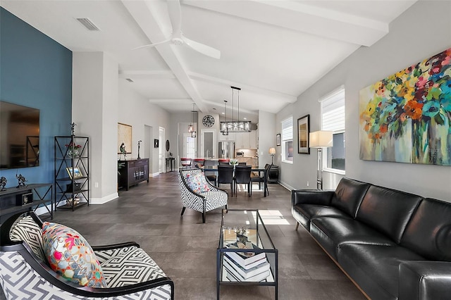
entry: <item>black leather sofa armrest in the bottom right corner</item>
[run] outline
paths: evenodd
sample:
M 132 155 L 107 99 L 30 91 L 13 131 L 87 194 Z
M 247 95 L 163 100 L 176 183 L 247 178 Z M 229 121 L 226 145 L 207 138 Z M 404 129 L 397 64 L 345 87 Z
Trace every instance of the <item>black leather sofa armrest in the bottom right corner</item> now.
M 448 299 L 451 294 L 451 262 L 400 263 L 400 300 Z

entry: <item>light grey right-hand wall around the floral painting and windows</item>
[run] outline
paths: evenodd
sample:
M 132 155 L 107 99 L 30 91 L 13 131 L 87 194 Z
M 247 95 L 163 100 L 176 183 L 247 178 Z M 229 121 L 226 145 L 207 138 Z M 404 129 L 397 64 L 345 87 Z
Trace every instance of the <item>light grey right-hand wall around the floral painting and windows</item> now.
M 383 39 L 371 47 L 358 49 L 299 95 L 295 104 L 280 111 L 276 118 L 278 130 L 280 131 L 280 120 L 290 114 L 295 123 L 297 118 L 310 114 L 310 130 L 319 130 L 320 106 L 317 100 L 340 85 L 345 85 L 346 177 L 451 201 L 449 166 L 359 159 L 359 90 L 449 48 L 450 16 L 449 1 L 417 2 L 390 24 L 390 33 Z M 311 151 L 310 155 L 295 154 L 293 165 L 281 165 L 280 180 L 286 185 L 305 188 L 307 180 L 313 182 L 316 178 L 315 151 Z M 335 176 L 325 176 L 325 187 L 338 183 L 338 179 Z

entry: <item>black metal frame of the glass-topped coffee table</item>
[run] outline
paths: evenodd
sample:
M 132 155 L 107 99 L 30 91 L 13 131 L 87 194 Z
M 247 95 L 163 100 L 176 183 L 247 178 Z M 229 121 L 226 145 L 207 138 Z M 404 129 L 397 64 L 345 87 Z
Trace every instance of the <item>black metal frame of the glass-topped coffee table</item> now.
M 274 287 L 274 294 L 275 299 L 278 300 L 278 250 L 274 246 L 273 241 L 271 240 L 271 237 L 268 233 L 268 230 L 266 230 L 266 226 L 263 223 L 263 220 L 261 221 L 261 227 L 263 227 L 263 230 L 266 232 L 266 235 L 268 235 L 269 242 L 271 242 L 271 245 L 273 246 L 273 249 L 252 249 L 252 252 L 255 252 L 256 254 L 265 252 L 265 253 L 273 253 L 275 254 L 275 266 L 274 270 L 271 265 L 271 272 L 273 273 L 274 282 L 225 282 L 221 280 L 222 273 L 223 273 L 223 255 L 224 252 L 242 252 L 242 249 L 226 249 L 222 248 L 221 245 L 223 244 L 223 221 L 224 221 L 224 212 L 225 211 L 248 211 L 252 212 L 255 211 L 257 215 L 259 215 L 258 209 L 223 209 L 222 212 L 222 218 L 221 218 L 221 232 L 219 235 L 219 244 L 218 249 L 216 250 L 216 297 L 219 300 L 219 287 L 221 285 L 259 285 L 259 286 L 272 286 Z M 257 216 L 257 236 L 259 232 L 259 218 L 261 219 L 261 216 Z M 250 251 L 246 249 L 246 251 Z

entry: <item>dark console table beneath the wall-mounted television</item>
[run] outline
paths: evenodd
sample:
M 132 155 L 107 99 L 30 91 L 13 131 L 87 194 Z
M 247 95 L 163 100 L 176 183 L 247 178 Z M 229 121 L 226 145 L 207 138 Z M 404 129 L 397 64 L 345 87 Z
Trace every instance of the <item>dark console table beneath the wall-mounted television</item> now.
M 8 187 L 0 192 L 0 223 L 15 213 L 36 211 L 40 206 L 45 207 L 53 219 L 53 187 L 51 183 L 38 183 L 27 187 Z M 50 204 L 50 208 L 46 204 Z

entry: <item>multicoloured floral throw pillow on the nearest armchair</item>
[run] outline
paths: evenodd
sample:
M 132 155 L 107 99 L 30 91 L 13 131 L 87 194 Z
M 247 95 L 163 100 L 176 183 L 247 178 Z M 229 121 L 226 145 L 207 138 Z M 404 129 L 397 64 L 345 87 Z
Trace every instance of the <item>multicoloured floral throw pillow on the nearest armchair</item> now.
M 50 268 L 87 287 L 106 287 L 103 271 L 86 239 L 70 227 L 44 222 L 44 252 Z

